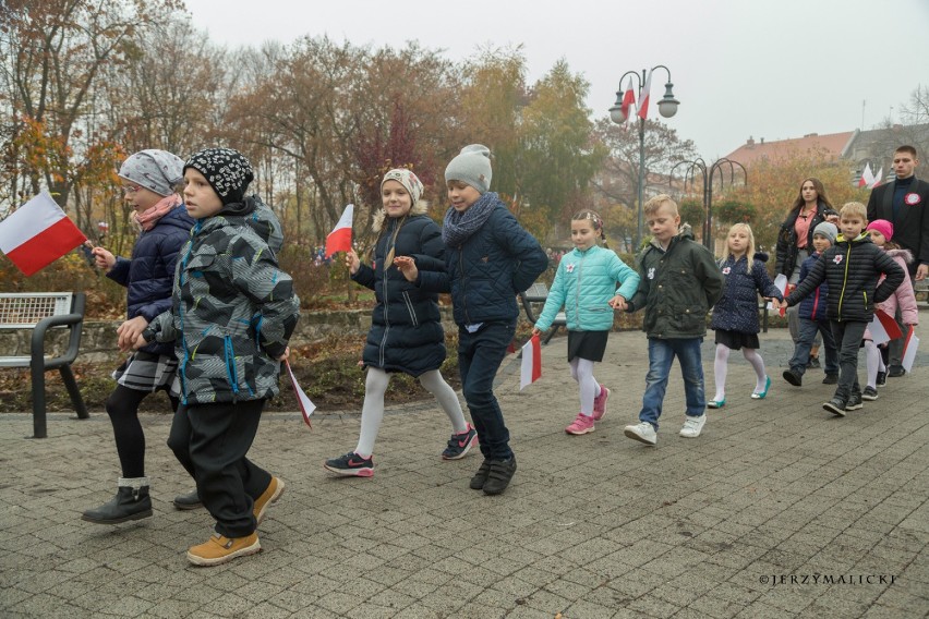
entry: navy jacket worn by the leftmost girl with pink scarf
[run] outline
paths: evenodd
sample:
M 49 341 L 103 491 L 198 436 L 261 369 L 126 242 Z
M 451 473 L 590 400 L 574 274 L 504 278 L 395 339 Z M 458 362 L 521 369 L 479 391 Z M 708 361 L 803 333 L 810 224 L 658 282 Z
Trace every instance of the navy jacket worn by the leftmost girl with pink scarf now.
M 180 205 L 165 215 L 152 230 L 143 231 L 132 248 L 132 258 L 117 257 L 107 277 L 126 290 L 126 317 L 142 316 L 152 321 L 171 308 L 174 265 L 178 253 L 190 240 L 194 220 Z M 140 349 L 153 354 L 173 354 L 172 342 L 153 342 Z

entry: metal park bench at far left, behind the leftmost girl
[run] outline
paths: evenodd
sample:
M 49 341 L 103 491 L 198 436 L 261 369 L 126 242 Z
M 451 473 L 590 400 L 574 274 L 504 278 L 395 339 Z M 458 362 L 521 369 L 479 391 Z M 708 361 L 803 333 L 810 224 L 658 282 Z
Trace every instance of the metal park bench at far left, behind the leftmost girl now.
M 74 380 L 71 364 L 81 347 L 84 328 L 83 292 L 4 292 L 0 293 L 0 329 L 32 329 L 28 356 L 0 356 L 0 367 L 28 367 L 33 383 L 33 428 L 35 438 L 46 437 L 45 373 L 58 369 L 71 396 L 77 416 L 89 415 Z M 46 355 L 45 336 L 49 329 L 68 328 L 68 349 L 60 356 Z

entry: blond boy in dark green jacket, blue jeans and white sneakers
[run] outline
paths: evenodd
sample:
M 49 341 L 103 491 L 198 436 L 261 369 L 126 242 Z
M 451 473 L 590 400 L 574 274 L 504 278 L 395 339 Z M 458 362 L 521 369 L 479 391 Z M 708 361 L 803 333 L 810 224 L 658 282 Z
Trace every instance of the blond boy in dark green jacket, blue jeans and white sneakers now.
M 687 421 L 680 436 L 700 436 L 707 423 L 707 396 L 700 344 L 707 335 L 707 312 L 723 292 L 723 274 L 690 226 L 680 224 L 677 203 L 660 194 L 644 205 L 652 240 L 638 258 L 639 288 L 627 312 L 646 310 L 642 330 L 649 338 L 649 373 L 639 423 L 626 426 L 627 437 L 655 445 L 659 417 L 671 365 L 677 356 L 684 375 Z

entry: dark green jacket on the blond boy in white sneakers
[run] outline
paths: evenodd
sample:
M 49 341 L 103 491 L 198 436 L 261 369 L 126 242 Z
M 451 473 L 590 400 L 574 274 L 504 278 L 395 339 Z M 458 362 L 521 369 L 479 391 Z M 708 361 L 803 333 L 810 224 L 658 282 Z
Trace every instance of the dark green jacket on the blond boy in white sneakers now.
M 707 313 L 720 300 L 725 278 L 708 248 L 693 241 L 688 224 L 667 251 L 652 240 L 637 259 L 639 289 L 629 312 L 646 310 L 642 330 L 650 338 L 702 338 Z

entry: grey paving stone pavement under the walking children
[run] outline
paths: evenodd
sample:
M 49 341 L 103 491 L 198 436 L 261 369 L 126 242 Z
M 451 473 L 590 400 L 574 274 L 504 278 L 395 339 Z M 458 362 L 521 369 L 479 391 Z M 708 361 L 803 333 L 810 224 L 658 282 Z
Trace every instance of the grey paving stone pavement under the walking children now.
M 169 415 L 143 420 L 155 515 L 102 526 L 80 515 L 119 474 L 106 414 L 52 414 L 47 439 L 24 438 L 29 415 L 2 414 L 0 616 L 929 616 L 926 367 L 837 418 L 821 409 L 821 371 L 799 389 L 781 378 L 786 330 L 761 341 L 768 398 L 749 398 L 734 353 L 726 406 L 680 438 L 675 368 L 655 448 L 623 435 L 644 387 L 642 333 L 611 335 L 596 366 L 607 413 L 580 437 L 564 433 L 578 410 L 566 340 L 543 348 L 543 377 L 523 391 L 509 357 L 497 395 L 519 470 L 497 497 L 468 488 L 480 456 L 439 459 L 449 428 L 434 403 L 388 411 L 370 480 L 322 468 L 354 447 L 357 414 L 318 411 L 312 430 L 267 414 L 250 456 L 287 490 L 260 527 L 264 551 L 216 568 L 184 558 L 212 520 L 171 507 L 192 485 L 165 446 Z

